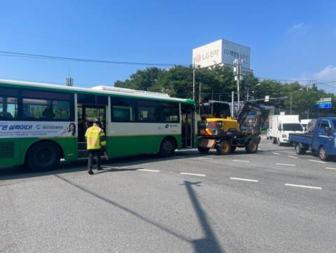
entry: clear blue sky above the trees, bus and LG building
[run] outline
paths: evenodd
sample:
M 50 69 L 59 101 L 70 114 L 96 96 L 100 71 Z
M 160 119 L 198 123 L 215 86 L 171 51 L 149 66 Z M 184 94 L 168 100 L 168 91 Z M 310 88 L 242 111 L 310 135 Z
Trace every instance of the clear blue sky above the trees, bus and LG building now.
M 0 51 L 172 67 L 225 39 L 251 48 L 255 76 L 336 93 L 336 1 L 0 1 Z M 90 88 L 153 65 L 10 57 L 0 78 Z M 305 82 L 302 82 L 305 84 Z

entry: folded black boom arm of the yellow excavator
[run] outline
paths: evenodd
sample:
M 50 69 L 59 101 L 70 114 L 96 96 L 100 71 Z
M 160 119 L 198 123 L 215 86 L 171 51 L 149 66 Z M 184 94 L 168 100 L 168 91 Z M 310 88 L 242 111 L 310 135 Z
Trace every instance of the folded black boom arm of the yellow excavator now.
M 246 121 L 247 115 L 250 111 L 259 111 L 260 114 L 256 115 L 256 120 L 253 126 L 253 130 L 250 132 L 250 136 L 258 136 L 260 135 L 259 128 L 262 125 L 265 125 L 265 122 L 267 121 L 268 115 L 269 115 L 269 109 L 266 109 L 265 107 L 260 107 L 259 104 L 254 104 L 248 101 L 245 101 L 236 116 L 236 120 L 239 125 L 239 129 L 242 125 L 244 125 L 244 122 Z

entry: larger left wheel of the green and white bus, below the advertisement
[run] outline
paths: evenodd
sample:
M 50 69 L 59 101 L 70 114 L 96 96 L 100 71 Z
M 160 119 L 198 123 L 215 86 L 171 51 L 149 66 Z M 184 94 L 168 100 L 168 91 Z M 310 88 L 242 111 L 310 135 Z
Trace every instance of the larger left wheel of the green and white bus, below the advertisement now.
M 43 172 L 54 170 L 61 159 L 61 152 L 52 142 L 38 142 L 26 154 L 26 163 L 31 170 Z

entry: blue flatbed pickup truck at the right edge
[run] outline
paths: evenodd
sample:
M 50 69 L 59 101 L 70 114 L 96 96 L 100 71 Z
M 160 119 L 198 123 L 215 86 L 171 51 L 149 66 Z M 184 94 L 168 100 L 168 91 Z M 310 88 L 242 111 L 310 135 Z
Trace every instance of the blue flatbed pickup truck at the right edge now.
M 336 156 L 336 118 L 318 118 L 312 134 L 289 134 L 289 141 L 295 146 L 298 155 L 307 150 L 318 152 L 321 160 Z

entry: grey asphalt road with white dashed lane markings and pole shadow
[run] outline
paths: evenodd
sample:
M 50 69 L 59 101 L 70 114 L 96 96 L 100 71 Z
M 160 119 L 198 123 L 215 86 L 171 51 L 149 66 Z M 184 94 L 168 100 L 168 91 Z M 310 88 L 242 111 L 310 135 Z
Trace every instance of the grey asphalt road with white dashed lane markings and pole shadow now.
M 0 252 L 335 252 L 335 160 L 259 148 L 1 167 Z

